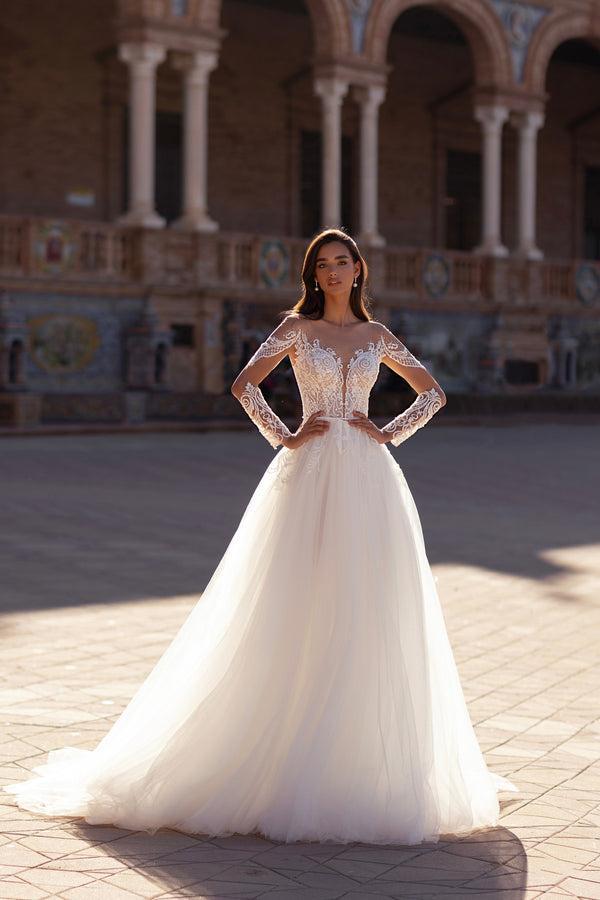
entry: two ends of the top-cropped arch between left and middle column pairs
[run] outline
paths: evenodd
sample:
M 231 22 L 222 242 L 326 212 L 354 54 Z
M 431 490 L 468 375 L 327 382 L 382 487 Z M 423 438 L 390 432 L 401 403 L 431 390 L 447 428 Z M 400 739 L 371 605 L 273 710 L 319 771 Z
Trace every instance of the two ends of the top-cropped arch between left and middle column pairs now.
M 223 0 L 190 0 L 194 19 L 218 28 Z M 316 61 L 328 61 L 352 54 L 352 26 L 344 0 L 304 0 L 312 26 Z

